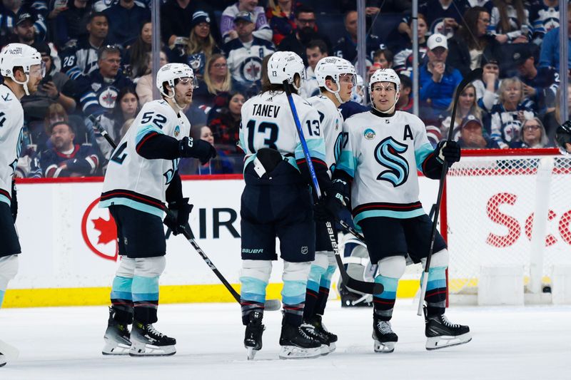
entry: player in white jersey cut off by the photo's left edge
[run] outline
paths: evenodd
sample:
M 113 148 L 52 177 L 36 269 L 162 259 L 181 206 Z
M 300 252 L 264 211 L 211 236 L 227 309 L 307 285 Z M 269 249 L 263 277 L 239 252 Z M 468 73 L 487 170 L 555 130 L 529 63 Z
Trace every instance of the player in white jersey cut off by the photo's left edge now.
M 14 225 L 18 212 L 14 170 L 20 156 L 24 127 L 20 99 L 36 92 L 44 71 L 40 53 L 31 46 L 10 43 L 0 52 L 0 73 L 4 77 L 4 83 L 0 85 L 0 307 L 8 282 L 18 271 L 21 253 Z M 2 353 L 4 349 L 7 346 L 0 341 L 0 366 L 8 359 Z

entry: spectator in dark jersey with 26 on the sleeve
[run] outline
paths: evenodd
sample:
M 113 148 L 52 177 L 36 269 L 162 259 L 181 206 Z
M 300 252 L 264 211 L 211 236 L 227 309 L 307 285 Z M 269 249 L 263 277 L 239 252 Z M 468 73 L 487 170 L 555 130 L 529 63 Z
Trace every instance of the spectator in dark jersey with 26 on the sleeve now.
M 71 79 L 89 76 L 97 70 L 98 49 L 105 46 L 108 33 L 107 16 L 94 13 L 89 17 L 87 38 L 70 41 L 62 52 L 61 71 Z

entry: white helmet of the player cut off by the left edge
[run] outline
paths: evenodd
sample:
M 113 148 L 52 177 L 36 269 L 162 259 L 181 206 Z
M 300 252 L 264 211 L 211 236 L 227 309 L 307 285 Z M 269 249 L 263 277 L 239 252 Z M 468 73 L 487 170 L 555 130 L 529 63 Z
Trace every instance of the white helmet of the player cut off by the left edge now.
M 43 66 L 43 61 L 41 61 L 41 54 L 35 48 L 25 43 L 9 43 L 0 51 L 0 73 L 2 76 L 11 78 L 12 81 L 24 86 L 26 95 L 30 95 L 28 92 L 28 81 L 30 79 L 30 67 L 34 65 L 39 65 L 43 69 L 41 73 L 43 77 L 46 68 Z M 26 81 L 16 81 L 16 78 L 14 78 L 14 67 L 24 69 Z

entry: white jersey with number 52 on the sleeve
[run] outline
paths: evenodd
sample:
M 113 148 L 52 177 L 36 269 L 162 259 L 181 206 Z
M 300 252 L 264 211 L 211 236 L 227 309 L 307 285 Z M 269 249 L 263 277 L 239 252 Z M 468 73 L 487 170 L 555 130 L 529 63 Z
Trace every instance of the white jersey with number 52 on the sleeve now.
M 137 153 L 157 133 L 181 140 L 190 135 L 191 123 L 182 112 L 176 115 L 166 101 L 146 103 L 111 155 L 99 207 L 125 205 L 163 217 L 166 188 L 180 159 L 148 160 Z

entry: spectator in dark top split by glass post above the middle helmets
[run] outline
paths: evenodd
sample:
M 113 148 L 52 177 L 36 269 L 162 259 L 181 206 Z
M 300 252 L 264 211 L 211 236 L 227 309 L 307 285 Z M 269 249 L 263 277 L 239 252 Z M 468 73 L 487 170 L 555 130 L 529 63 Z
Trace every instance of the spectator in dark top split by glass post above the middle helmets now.
M 357 11 L 348 11 L 345 14 L 345 36 L 337 41 L 337 45 L 333 47 L 335 56 L 345 58 L 346 60 L 355 63 L 357 60 Z M 365 53 L 371 61 L 375 51 L 383 48 L 383 43 L 380 38 L 374 34 L 367 34 L 365 39 Z

